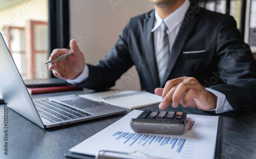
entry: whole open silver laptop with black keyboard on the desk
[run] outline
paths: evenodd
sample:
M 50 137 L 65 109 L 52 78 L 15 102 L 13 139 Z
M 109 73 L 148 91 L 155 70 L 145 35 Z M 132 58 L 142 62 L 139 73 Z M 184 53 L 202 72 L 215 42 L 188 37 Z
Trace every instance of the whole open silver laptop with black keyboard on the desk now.
M 0 92 L 8 103 L 7 106 L 41 128 L 125 112 L 125 109 L 114 105 L 84 99 L 74 94 L 32 100 L 2 34 L 0 64 Z

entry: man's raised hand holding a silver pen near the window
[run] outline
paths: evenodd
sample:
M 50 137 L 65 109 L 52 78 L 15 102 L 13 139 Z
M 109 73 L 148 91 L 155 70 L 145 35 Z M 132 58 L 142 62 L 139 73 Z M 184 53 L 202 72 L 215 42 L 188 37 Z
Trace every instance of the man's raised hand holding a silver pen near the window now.
M 76 78 L 82 73 L 86 65 L 83 54 L 79 50 L 76 41 L 73 39 L 70 40 L 70 49 L 73 52 L 71 56 L 48 64 L 49 70 L 52 70 L 56 77 L 63 80 Z M 54 60 L 67 51 L 69 51 L 69 49 L 54 49 L 49 59 Z

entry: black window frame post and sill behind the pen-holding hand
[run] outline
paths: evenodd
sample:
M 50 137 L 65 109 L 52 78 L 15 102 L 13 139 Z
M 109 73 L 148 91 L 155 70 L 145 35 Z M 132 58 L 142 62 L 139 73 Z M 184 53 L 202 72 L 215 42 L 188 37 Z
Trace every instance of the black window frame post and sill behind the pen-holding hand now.
M 69 0 L 48 0 L 49 56 L 55 48 L 69 48 L 69 26 Z M 25 80 L 25 84 L 28 88 L 67 86 L 66 82 L 55 77 L 52 71 L 49 71 L 49 74 L 48 79 Z

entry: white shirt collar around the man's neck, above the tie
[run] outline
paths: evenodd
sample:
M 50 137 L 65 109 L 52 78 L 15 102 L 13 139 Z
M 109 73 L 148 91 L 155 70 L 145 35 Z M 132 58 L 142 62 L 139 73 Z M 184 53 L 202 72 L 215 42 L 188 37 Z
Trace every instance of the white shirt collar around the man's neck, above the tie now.
M 189 5 L 189 0 L 185 0 L 185 2 L 178 9 L 176 9 L 172 14 L 168 15 L 165 19 L 162 19 L 159 16 L 157 10 L 155 9 L 155 23 L 151 32 L 157 30 L 162 21 L 166 23 L 168 31 L 172 32 L 176 28 L 176 26 L 183 21 Z

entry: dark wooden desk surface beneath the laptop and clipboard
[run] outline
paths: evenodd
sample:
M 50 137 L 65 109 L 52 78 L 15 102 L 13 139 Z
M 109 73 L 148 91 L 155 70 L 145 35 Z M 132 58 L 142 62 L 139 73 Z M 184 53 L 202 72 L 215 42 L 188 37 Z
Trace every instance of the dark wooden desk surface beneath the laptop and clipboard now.
M 64 94 L 84 94 L 88 90 L 69 91 L 33 95 L 33 98 Z M 126 113 L 109 117 L 42 129 L 14 111 L 8 111 L 8 155 L 4 154 L 4 105 L 0 105 L 0 158 L 65 158 L 63 155 L 71 147 L 96 134 L 98 131 L 119 120 Z M 159 110 L 152 105 L 140 110 Z M 167 111 L 183 111 L 188 114 L 214 115 L 198 109 L 178 107 Z M 238 116 L 220 115 L 220 152 L 215 158 L 256 158 L 256 112 L 246 112 Z M 202 150 L 203 151 L 203 150 Z

